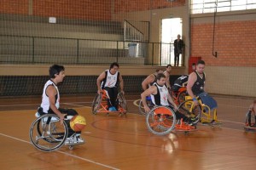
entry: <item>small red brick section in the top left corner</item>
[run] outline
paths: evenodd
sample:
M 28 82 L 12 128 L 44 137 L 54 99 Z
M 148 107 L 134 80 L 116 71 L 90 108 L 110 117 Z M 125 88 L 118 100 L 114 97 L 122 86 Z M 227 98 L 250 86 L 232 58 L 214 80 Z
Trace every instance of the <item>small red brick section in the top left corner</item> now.
M 1 14 L 28 14 L 28 0 L 1 0 Z

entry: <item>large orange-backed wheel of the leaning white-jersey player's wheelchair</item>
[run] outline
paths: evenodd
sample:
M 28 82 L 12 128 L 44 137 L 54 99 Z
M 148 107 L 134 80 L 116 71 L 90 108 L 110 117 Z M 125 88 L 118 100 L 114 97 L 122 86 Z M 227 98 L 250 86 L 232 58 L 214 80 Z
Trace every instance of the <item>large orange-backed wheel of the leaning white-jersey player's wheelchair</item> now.
M 170 133 L 175 127 L 175 122 L 174 111 L 166 106 L 156 106 L 146 116 L 148 130 L 156 135 Z

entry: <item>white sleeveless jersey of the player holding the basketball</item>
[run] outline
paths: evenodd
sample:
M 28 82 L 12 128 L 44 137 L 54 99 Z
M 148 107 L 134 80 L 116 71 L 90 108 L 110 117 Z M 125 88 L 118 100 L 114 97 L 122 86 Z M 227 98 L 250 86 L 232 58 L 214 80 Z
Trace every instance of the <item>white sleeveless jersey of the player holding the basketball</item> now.
M 41 103 L 41 107 L 43 108 L 43 111 L 44 113 L 49 113 L 50 108 L 49 108 L 49 97 L 47 96 L 46 94 L 46 89 L 49 87 L 49 86 L 54 86 L 56 88 L 56 91 L 57 91 L 57 94 L 55 95 L 55 106 L 56 108 L 59 109 L 60 107 L 60 94 L 59 94 L 59 89 L 58 87 L 55 85 L 54 82 L 52 82 L 51 80 L 49 80 L 48 82 L 46 82 L 44 84 L 44 91 L 43 91 L 43 94 L 42 94 L 42 103 Z

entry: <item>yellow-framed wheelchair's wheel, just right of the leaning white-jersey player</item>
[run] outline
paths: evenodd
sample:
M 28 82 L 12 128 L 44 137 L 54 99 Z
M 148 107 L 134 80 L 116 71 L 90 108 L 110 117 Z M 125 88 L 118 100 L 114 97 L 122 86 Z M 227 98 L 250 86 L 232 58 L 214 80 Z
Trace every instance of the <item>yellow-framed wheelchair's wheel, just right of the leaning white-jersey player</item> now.
M 201 119 L 201 106 L 195 106 L 192 99 L 188 99 L 180 104 L 178 106 L 178 111 L 183 113 L 183 115 L 188 116 L 193 124 L 196 124 Z

